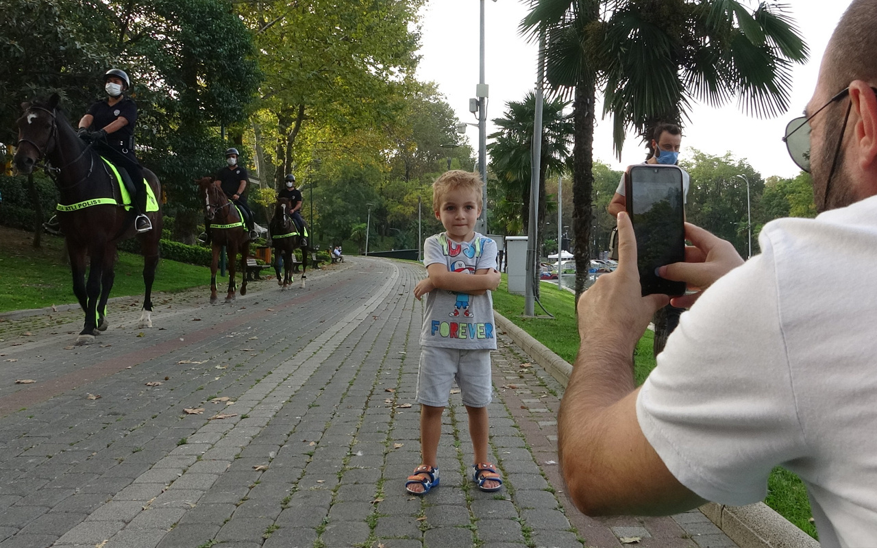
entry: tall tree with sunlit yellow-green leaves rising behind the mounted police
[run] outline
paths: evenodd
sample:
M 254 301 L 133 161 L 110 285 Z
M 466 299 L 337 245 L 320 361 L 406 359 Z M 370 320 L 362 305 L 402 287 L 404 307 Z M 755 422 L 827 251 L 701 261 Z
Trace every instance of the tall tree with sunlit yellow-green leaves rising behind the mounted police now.
M 296 165 L 296 139 L 307 124 L 334 133 L 380 126 L 396 116 L 398 90 L 417 65 L 415 26 L 423 0 L 374 3 L 246 2 L 236 4 L 253 31 L 266 80 L 260 108 L 275 117 L 262 127 L 275 184 Z M 301 160 L 301 159 L 300 159 Z

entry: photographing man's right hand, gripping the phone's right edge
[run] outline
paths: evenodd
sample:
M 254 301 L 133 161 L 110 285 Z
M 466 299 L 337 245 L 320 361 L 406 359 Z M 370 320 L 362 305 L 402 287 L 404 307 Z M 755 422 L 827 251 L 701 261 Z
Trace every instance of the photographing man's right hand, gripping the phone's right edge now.
M 697 300 L 701 292 L 713 282 L 744 263 L 731 242 L 718 238 L 695 224 L 685 224 L 685 239 L 691 246 L 685 246 L 685 262 L 660 267 L 658 275 L 672 281 L 684 281 L 689 290 L 697 293 L 674 297 L 670 303 L 687 309 Z

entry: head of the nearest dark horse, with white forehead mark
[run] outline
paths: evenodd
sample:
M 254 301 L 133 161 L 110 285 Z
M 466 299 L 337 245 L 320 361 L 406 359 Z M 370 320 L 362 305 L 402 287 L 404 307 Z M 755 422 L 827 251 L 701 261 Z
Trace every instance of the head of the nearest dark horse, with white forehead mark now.
M 47 102 L 22 103 L 18 118 L 18 150 L 12 159 L 22 174 L 29 174 L 37 162 L 58 143 L 57 108 L 61 97 L 53 94 Z

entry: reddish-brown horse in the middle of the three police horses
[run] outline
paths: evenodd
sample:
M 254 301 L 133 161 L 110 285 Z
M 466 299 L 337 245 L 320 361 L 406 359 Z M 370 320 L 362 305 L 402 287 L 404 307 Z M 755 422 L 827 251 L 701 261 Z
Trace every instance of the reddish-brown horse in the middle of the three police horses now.
M 240 272 L 243 281 L 240 284 L 240 295 L 246 295 L 246 258 L 250 254 L 250 235 L 246 231 L 246 225 L 240 216 L 240 211 L 225 197 L 225 192 L 219 188 L 212 177 L 196 179 L 198 196 L 204 203 L 204 218 L 210 223 L 210 235 L 213 243 L 213 260 L 210 262 L 210 304 L 217 302 L 217 268 L 219 265 L 219 252 L 225 246 L 228 252 L 228 294 L 225 302 L 235 300 L 237 274 L 235 260 L 240 252 Z

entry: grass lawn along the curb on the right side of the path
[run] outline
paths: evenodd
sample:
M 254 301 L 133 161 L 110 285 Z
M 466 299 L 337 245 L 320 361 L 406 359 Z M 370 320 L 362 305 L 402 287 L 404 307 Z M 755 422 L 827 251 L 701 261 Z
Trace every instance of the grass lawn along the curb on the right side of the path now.
M 524 297 L 510 295 L 506 276 L 503 283 L 494 292 L 494 309 L 507 317 L 512 323 L 530 333 L 540 343 L 550 348 L 567 362 L 572 363 L 575 353 L 579 350 L 579 330 L 575 323 L 575 296 L 566 289 L 559 289 L 550 283 L 540 284 L 540 302 L 545 309 L 553 314 L 553 318 L 524 318 Z M 543 314 L 536 304 L 536 313 Z M 639 339 L 634 352 L 634 376 L 637 385 L 645 381 L 645 377 L 655 367 L 652 357 L 652 331 L 645 331 Z M 807 491 L 801 480 L 788 470 L 774 468 L 767 483 L 768 494 L 765 499 L 770 506 L 801 530 L 816 537 L 816 527 L 810 523 L 810 503 Z

